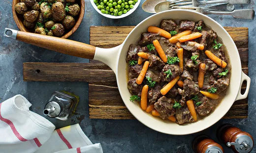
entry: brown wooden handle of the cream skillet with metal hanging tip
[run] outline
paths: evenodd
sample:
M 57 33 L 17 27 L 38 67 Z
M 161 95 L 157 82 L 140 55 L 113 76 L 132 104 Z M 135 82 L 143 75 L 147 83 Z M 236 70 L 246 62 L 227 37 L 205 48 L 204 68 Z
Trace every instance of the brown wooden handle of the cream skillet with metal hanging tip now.
M 64 54 L 94 59 L 96 47 L 77 41 L 5 28 L 4 36 Z

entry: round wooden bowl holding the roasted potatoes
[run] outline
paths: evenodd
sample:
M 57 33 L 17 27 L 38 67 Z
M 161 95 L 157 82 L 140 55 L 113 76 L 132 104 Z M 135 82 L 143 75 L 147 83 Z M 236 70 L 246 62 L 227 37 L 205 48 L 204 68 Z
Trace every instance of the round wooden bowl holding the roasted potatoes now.
M 34 33 L 34 30 L 30 29 L 30 28 L 27 28 L 23 25 L 23 15 L 21 14 L 18 14 L 16 11 L 15 11 L 15 5 L 20 2 L 20 0 L 12 0 L 12 15 L 13 15 L 13 19 L 16 23 L 16 25 L 18 26 L 18 28 L 21 30 L 21 31 L 25 31 L 25 32 L 32 32 Z M 78 16 L 75 17 L 75 20 L 76 20 L 76 23 L 75 23 L 75 26 L 73 26 L 73 28 L 68 31 L 67 33 L 65 33 L 61 38 L 68 38 L 71 34 L 73 34 L 76 29 L 80 26 L 83 18 L 84 18 L 84 14 L 85 14 L 85 1 L 84 0 L 80 0 L 80 13 Z

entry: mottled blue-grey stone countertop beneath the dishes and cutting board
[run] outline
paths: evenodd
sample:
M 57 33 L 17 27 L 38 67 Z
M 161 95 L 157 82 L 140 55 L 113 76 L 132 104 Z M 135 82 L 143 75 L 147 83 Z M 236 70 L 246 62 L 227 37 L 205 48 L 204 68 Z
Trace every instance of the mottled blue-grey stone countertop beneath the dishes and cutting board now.
M 89 43 L 90 26 L 135 26 L 152 14 L 146 13 L 140 6 L 124 19 L 108 19 L 96 12 L 89 0 L 85 1 L 85 15 L 77 31 L 69 37 L 71 40 Z M 254 8 L 256 0 L 250 4 L 236 4 L 235 8 Z M 175 136 L 154 131 L 137 120 L 100 120 L 89 119 L 87 82 L 24 82 L 23 62 L 88 62 L 88 59 L 72 57 L 54 51 L 45 50 L 23 42 L 3 37 L 5 27 L 18 29 L 12 18 L 11 0 L 3 0 L 0 5 L 0 102 L 22 94 L 32 103 L 31 110 L 42 115 L 45 103 L 52 92 L 66 90 L 80 97 L 77 114 L 68 121 L 49 119 L 57 128 L 80 123 L 81 128 L 93 143 L 100 142 L 104 153 L 192 153 L 191 142 L 198 134 L 207 134 L 214 140 L 217 128 L 230 123 L 253 135 L 256 140 L 256 19 L 234 19 L 232 16 L 209 15 L 222 26 L 249 27 L 249 76 L 252 79 L 249 93 L 248 119 L 226 119 L 199 133 Z M 104 31 L 102 31 L 104 32 Z M 171 129 L 170 129 L 171 130 Z M 220 142 L 219 142 L 220 143 Z M 224 146 L 222 144 L 222 146 Z M 224 147 L 225 153 L 231 153 Z M 256 153 L 256 147 L 252 151 Z

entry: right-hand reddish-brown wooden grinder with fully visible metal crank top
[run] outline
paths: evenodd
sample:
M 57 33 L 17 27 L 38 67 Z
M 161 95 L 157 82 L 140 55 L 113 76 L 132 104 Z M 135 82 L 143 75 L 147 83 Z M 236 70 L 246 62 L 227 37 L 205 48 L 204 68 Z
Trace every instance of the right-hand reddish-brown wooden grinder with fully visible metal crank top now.
M 217 130 L 217 137 L 227 147 L 232 147 L 235 153 L 250 153 L 254 147 L 254 139 L 251 134 L 230 124 L 221 126 Z

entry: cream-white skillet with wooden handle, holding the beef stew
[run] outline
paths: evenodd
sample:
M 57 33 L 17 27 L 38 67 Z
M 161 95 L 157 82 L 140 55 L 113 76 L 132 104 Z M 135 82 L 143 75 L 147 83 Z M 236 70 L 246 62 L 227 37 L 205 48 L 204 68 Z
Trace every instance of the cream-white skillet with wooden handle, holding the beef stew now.
M 224 97 L 220 105 L 213 111 L 213 113 L 195 123 L 178 125 L 169 121 L 163 121 L 158 117 L 153 117 L 145 111 L 142 111 L 138 104 L 129 101 L 129 97 L 131 96 L 131 94 L 127 89 L 126 70 L 126 55 L 128 47 L 130 44 L 137 43 L 137 41 L 140 39 L 141 33 L 147 31 L 148 26 L 159 26 L 162 19 L 187 19 L 192 21 L 203 20 L 207 26 L 211 27 L 214 31 L 217 32 L 218 36 L 221 37 L 229 54 L 230 64 L 232 68 L 230 83 L 226 92 L 226 96 Z M 11 34 L 6 35 L 6 33 L 10 31 L 12 31 Z M 248 95 L 250 88 L 251 79 L 242 72 L 238 50 L 227 31 L 220 24 L 218 24 L 213 19 L 207 17 L 206 15 L 190 10 L 168 10 L 150 16 L 147 19 L 143 20 L 141 23 L 139 23 L 129 33 L 123 44 L 111 49 L 96 48 L 91 45 L 79 43 L 68 39 L 34 33 L 26 33 L 8 28 L 5 29 L 4 35 L 45 49 L 104 62 L 116 74 L 120 95 L 131 114 L 145 126 L 162 133 L 184 135 L 209 128 L 210 126 L 218 122 L 226 114 L 226 112 L 232 106 L 233 102 L 245 99 Z M 247 81 L 247 89 L 242 95 L 240 93 L 240 90 L 242 82 L 244 80 Z

